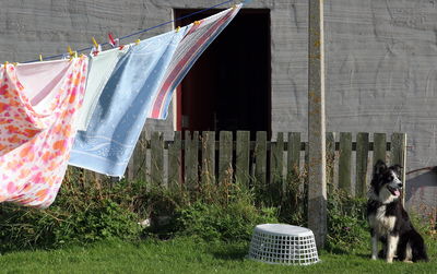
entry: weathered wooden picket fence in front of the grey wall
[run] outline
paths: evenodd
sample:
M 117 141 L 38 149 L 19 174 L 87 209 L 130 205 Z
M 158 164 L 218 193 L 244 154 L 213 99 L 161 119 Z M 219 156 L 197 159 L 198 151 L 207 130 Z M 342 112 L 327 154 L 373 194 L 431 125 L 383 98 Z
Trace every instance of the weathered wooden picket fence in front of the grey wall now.
M 204 182 L 265 186 L 305 172 L 308 146 L 299 132 L 279 132 L 274 141 L 268 140 L 265 131 L 257 132 L 256 141 L 250 141 L 248 131 L 237 131 L 235 139 L 231 131 L 186 131 L 184 139 L 181 134 L 175 132 L 173 141 L 164 141 L 161 132 L 152 132 L 150 140 L 142 135 L 128 178 L 168 188 L 184 183 L 194 191 Z M 386 133 L 363 132 L 353 140 L 350 132 L 327 133 L 328 181 L 365 196 L 377 159 L 405 166 L 406 134 L 392 133 L 389 138 Z

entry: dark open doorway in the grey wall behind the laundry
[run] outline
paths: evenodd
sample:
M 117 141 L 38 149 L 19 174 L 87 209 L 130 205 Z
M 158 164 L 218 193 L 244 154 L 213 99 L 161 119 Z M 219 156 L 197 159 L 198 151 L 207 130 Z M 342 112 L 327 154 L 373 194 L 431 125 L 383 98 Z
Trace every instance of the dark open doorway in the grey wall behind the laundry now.
M 175 10 L 181 17 L 197 10 Z M 177 22 L 188 25 L 212 10 Z M 270 11 L 243 9 L 177 88 L 177 130 L 271 132 Z

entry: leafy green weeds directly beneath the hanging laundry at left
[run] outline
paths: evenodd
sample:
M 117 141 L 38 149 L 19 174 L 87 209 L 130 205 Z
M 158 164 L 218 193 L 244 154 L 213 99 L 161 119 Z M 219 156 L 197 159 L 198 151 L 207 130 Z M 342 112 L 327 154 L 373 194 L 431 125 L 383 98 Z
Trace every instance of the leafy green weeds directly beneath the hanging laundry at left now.
M 46 210 L 1 204 L 0 250 L 57 248 L 110 238 L 134 240 L 141 229 L 130 206 L 132 193 L 135 191 L 126 181 L 104 188 L 67 180 Z

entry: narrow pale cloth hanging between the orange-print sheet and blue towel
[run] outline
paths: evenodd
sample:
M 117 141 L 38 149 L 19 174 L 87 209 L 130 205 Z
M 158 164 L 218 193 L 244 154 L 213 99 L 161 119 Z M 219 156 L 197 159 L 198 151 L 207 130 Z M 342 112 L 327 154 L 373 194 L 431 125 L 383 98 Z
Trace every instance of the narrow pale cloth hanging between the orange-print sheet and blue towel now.
M 125 46 L 122 49 L 115 48 L 98 52 L 97 56 L 91 55 L 85 96 L 75 123 L 78 130 L 86 130 L 103 88 L 113 74 L 118 60 L 128 50 L 129 46 Z

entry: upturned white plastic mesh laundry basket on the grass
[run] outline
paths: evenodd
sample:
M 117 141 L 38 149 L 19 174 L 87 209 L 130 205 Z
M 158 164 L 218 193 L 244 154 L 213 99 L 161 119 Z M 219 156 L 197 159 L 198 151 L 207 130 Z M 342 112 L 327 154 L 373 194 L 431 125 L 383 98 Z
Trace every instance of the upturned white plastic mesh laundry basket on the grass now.
M 317 263 L 316 240 L 310 229 L 284 224 L 263 224 L 255 227 L 249 258 L 275 264 Z

